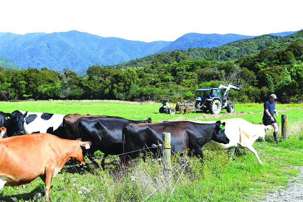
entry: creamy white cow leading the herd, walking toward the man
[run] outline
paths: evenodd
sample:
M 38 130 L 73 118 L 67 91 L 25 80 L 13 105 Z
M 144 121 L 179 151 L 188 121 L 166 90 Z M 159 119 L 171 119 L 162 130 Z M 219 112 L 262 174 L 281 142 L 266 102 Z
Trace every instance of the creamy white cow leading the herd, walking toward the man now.
M 215 121 L 193 121 L 198 123 L 214 123 Z M 231 150 L 231 156 L 235 153 L 235 149 L 247 148 L 249 151 L 255 154 L 258 162 L 263 164 L 260 160 L 257 151 L 252 144 L 257 139 L 261 139 L 261 141 L 265 141 L 265 131 L 272 128 L 271 125 L 265 126 L 264 124 L 253 124 L 249 121 L 246 121 L 242 118 L 231 118 L 231 119 L 224 119 L 221 122 L 225 122 L 225 134 L 229 139 L 228 144 L 221 144 L 215 141 L 209 141 L 206 143 L 202 149 L 208 150 Z

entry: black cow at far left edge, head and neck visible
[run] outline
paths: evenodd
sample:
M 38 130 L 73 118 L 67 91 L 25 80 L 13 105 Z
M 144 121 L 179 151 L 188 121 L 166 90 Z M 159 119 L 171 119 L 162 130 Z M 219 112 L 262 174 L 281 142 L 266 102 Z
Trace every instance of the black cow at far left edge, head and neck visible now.
M 12 137 L 14 133 L 17 135 L 23 135 L 23 123 L 27 112 L 22 114 L 22 112 L 15 110 L 12 114 L 0 111 L 0 127 L 6 128 L 6 134 L 8 137 Z

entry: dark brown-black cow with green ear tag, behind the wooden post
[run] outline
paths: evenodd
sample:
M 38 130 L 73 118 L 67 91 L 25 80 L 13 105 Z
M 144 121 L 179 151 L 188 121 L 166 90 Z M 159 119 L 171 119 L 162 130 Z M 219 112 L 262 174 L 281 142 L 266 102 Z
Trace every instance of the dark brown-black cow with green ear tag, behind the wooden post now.
M 189 121 L 173 121 L 151 124 L 127 124 L 122 129 L 122 140 L 125 143 L 124 154 L 120 155 L 123 164 L 139 156 L 141 150 L 150 151 L 156 155 L 158 148 L 153 144 L 163 144 L 162 133 L 171 133 L 171 152 L 201 157 L 201 148 L 205 143 L 214 140 L 223 144 L 229 143 L 224 133 L 225 123 L 216 121 L 213 124 L 201 124 Z M 123 144 L 124 145 L 124 144 Z M 151 148 L 150 148 L 151 147 Z M 126 157 L 125 157 L 125 154 Z

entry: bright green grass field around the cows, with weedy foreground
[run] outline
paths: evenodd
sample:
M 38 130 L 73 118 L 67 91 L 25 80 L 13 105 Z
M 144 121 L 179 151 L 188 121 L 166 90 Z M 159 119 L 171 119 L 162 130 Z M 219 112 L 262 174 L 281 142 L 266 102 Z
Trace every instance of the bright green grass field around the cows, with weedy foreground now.
M 153 122 L 161 120 L 183 120 L 190 118 L 201 121 L 241 117 L 250 122 L 262 121 L 263 104 L 235 104 L 235 113 L 244 115 L 219 118 L 195 118 L 200 113 L 159 114 L 160 103 L 130 103 L 119 101 L 23 101 L 0 102 L 0 111 L 14 110 L 45 112 L 55 114 L 91 114 L 120 116 L 132 120 L 148 117 Z M 288 114 L 288 133 L 303 134 L 303 109 L 300 104 L 276 104 L 279 111 L 277 119 L 281 137 L 281 114 Z M 283 110 L 282 110 L 283 109 Z M 252 112 L 252 113 L 250 113 Z M 210 114 L 207 114 L 210 115 Z M 211 116 L 210 116 L 211 117 Z M 135 161 L 125 172 L 121 172 L 118 157 L 107 159 L 104 170 L 91 171 L 87 164 L 87 174 L 78 174 L 78 168 L 66 167 L 53 179 L 52 201 L 143 201 L 160 187 L 146 201 L 258 201 L 266 194 L 277 190 L 296 176 L 293 166 L 303 166 L 303 143 L 301 135 L 290 135 L 289 140 L 281 143 L 273 141 L 272 132 L 266 132 L 265 142 L 254 143 L 263 165 L 258 164 L 255 156 L 241 150 L 229 161 L 226 151 L 203 151 L 205 160 L 188 157 L 183 174 L 184 161 L 178 155 L 172 157 L 173 173 L 170 181 L 160 185 L 168 178 L 160 163 L 151 159 Z M 96 156 L 102 157 L 101 152 Z M 34 162 L 33 162 L 34 163 Z M 181 168 L 180 168 L 181 167 Z M 178 170 L 180 168 L 180 170 Z M 178 170 L 178 171 L 177 171 Z M 179 178 L 180 177 L 180 178 Z M 178 180 L 179 179 L 179 180 Z M 176 185 L 178 180 L 178 184 Z M 176 185 L 176 187 L 175 187 Z M 33 195 L 44 187 L 40 179 L 19 187 L 4 187 L 0 190 L 0 201 L 31 200 Z M 175 187 L 175 189 L 174 189 Z M 173 194 L 171 192 L 174 190 Z M 42 199 L 40 201 L 43 201 Z

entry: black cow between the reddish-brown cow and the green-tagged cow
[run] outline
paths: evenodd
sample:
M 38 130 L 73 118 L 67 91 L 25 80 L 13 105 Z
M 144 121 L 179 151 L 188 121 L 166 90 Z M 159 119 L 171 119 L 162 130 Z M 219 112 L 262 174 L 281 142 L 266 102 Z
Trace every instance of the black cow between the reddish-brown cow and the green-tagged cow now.
M 148 118 L 151 121 L 151 118 Z M 122 128 L 129 123 L 145 124 L 146 120 L 134 121 L 121 117 L 104 116 L 104 117 L 82 117 L 76 122 L 76 136 L 84 141 L 91 141 L 92 147 L 87 151 L 87 157 L 98 168 L 98 164 L 93 157 L 95 151 L 99 150 L 104 153 L 101 164 L 105 158 L 110 155 L 122 154 Z

